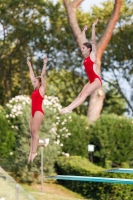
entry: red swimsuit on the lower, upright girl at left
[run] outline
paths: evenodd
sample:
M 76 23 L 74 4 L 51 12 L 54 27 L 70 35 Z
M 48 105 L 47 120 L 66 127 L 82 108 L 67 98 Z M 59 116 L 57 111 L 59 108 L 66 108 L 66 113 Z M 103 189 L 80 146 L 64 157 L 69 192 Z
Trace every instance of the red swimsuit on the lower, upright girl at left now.
M 44 98 L 40 95 L 40 91 L 38 90 L 34 90 L 31 94 L 31 113 L 32 113 L 32 117 L 34 117 L 34 114 L 36 111 L 40 111 L 41 113 L 44 114 L 44 111 L 42 109 L 42 102 L 44 100 Z

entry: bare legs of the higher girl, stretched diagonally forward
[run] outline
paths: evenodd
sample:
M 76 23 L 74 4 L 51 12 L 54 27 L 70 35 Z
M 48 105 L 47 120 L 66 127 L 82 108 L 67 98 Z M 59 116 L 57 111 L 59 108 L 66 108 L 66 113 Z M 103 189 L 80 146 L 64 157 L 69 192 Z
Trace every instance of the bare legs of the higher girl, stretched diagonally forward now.
M 91 95 L 95 90 L 101 87 L 101 83 L 99 79 L 95 79 L 93 83 L 87 83 L 79 96 L 66 108 L 62 109 L 60 111 L 61 114 L 66 114 L 68 111 L 72 111 L 74 108 L 77 108 L 79 105 L 81 105 L 85 99 Z

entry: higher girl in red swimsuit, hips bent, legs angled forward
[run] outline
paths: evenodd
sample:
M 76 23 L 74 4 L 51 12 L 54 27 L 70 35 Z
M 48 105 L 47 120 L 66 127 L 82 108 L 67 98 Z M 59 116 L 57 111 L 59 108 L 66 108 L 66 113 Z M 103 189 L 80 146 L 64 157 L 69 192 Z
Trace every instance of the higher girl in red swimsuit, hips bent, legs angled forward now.
M 78 97 L 66 108 L 60 111 L 61 114 L 70 113 L 74 108 L 81 105 L 87 96 L 91 95 L 95 90 L 101 87 L 101 78 L 96 73 L 96 40 L 95 40 L 95 26 L 98 19 L 92 25 L 92 43 L 87 42 L 86 30 L 87 26 L 84 27 L 82 31 L 82 41 L 83 45 L 81 48 L 82 54 L 84 56 L 84 67 L 86 74 L 88 76 L 89 82 L 83 87 L 82 91 Z

